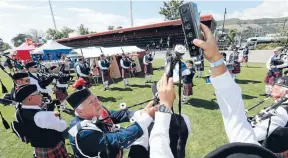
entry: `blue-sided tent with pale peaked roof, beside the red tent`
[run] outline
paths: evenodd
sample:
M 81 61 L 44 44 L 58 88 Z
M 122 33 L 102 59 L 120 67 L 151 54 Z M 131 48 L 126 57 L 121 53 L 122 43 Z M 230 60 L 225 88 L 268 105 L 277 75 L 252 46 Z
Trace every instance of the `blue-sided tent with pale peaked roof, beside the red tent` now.
M 59 44 L 54 40 L 48 40 L 47 43 L 37 49 L 37 51 L 43 52 L 43 60 L 59 60 L 61 56 L 67 56 L 71 50 L 72 48 Z

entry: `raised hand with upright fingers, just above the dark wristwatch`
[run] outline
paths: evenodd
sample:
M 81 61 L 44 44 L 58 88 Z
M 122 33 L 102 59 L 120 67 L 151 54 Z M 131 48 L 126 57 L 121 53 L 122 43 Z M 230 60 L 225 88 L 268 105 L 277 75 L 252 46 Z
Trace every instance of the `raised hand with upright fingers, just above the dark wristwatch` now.
M 167 74 L 164 73 L 161 80 L 157 84 L 157 90 L 160 105 L 165 105 L 171 109 L 176 98 L 173 79 L 169 78 L 168 80 Z

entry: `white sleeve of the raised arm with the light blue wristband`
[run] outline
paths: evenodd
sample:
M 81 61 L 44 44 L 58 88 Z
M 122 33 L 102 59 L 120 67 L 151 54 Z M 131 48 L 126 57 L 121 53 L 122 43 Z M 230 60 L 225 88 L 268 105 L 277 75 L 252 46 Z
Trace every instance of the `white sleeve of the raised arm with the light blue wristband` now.
M 256 136 L 251 124 L 247 121 L 241 88 L 235 83 L 228 71 L 215 78 L 211 83 L 222 114 L 226 135 L 229 142 L 253 143 Z

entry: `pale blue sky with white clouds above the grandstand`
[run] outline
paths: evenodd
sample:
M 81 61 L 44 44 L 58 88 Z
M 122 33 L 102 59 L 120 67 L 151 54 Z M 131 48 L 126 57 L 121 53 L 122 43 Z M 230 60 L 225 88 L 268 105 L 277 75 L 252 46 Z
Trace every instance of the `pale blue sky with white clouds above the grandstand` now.
M 188 2 L 188 0 L 185 0 Z M 257 19 L 288 16 L 288 1 L 217 1 L 195 0 L 201 15 L 213 14 L 216 20 L 223 20 L 224 9 L 227 18 Z M 106 31 L 109 25 L 130 26 L 129 1 L 99 0 L 51 0 L 57 29 L 64 26 L 76 29 L 84 24 L 90 31 Z M 132 0 L 134 26 L 164 21 L 159 15 L 163 1 Z M 45 31 L 54 28 L 48 0 L 0 0 L 0 38 L 11 44 L 18 33 L 30 29 Z

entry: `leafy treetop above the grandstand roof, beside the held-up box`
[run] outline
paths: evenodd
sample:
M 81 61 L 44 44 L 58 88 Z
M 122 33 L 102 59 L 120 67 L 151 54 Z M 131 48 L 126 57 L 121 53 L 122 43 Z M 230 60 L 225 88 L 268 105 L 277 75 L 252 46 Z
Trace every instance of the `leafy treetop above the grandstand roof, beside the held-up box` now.
M 180 19 L 179 7 L 183 4 L 183 0 L 170 0 L 163 2 L 164 7 L 160 7 L 159 14 L 165 17 L 165 20 Z

